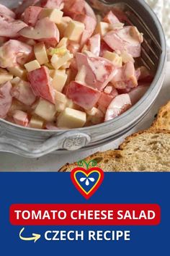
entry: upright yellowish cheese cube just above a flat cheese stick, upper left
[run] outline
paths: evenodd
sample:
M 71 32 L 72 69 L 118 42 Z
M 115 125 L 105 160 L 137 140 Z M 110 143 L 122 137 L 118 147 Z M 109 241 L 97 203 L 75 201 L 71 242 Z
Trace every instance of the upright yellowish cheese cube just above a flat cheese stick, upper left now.
M 34 47 L 35 57 L 40 65 L 48 63 L 48 54 L 44 43 L 37 43 Z

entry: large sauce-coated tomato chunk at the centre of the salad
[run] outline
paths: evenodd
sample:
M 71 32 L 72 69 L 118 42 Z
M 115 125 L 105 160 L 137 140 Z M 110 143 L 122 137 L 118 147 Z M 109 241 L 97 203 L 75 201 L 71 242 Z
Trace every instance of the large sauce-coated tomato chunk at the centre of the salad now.
M 85 82 L 97 90 L 102 90 L 112 80 L 115 67 L 107 59 L 101 57 L 88 57 L 85 54 L 76 54 L 79 69 L 86 67 Z

